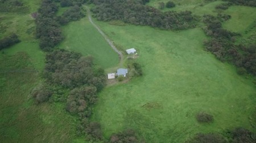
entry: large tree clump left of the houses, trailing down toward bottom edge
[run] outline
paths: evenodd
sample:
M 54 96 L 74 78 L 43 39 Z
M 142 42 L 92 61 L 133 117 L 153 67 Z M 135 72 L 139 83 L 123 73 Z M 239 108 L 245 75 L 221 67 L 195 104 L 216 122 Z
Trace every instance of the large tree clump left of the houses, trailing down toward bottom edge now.
M 97 92 L 105 86 L 104 70 L 93 64 L 92 57 L 82 57 L 79 53 L 61 49 L 47 53 L 43 75 L 49 85 L 57 85 L 52 86 L 55 87 L 53 93 L 56 91 L 54 96 L 63 94 L 67 101 L 66 110 L 79 116 L 77 135 L 87 133 L 88 140 L 101 140 L 100 124 L 89 123 L 87 118 L 92 114 L 92 105 L 97 102 Z M 68 97 L 63 93 L 65 89 L 70 90 Z M 63 100 L 61 97 L 53 98 L 59 99 Z

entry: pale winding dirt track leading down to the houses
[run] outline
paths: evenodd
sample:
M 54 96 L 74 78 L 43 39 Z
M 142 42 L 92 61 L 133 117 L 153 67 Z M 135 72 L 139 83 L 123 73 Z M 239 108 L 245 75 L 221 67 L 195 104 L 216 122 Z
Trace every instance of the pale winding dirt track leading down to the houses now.
M 87 11 L 88 19 L 90 23 L 92 23 L 92 25 L 98 30 L 98 32 L 101 33 L 101 35 L 105 38 L 108 44 L 112 47 L 112 49 L 119 55 L 120 62 L 121 62 L 123 60 L 123 54 L 121 53 L 121 51 L 117 50 L 117 47 L 115 47 L 113 42 L 109 40 L 108 36 L 106 36 L 106 34 L 103 31 L 101 31 L 100 27 L 98 27 L 95 23 L 93 23 L 92 16 L 90 15 L 90 9 L 88 6 L 85 6 L 85 7 L 86 7 L 86 11 Z

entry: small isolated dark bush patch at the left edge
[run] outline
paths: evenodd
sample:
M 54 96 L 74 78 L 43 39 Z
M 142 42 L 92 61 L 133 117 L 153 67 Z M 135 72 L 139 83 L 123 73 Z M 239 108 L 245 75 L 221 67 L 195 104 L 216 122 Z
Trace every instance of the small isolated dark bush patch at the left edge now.
M 11 34 L 11 36 L 5 37 L 0 40 L 0 50 L 11 45 L 17 44 L 18 42 L 20 42 L 18 36 L 16 34 Z

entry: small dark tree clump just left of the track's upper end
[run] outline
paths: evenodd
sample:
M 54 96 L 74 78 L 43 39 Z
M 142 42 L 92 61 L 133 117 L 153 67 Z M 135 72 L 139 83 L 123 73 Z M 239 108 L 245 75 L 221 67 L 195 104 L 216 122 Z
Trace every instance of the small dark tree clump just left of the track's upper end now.
M 80 20 L 85 15 L 82 13 L 82 8 L 75 5 L 64 11 L 63 15 L 59 17 L 60 24 L 64 25 L 70 21 Z

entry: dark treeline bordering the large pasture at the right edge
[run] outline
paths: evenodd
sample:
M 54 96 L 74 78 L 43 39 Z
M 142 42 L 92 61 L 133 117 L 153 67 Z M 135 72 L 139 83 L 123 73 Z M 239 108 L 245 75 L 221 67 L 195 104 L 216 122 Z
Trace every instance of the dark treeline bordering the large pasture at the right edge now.
M 238 73 L 249 72 L 256 75 L 256 45 L 237 45 L 236 37 L 239 33 L 230 32 L 222 28 L 221 22 L 229 19 L 228 15 L 218 14 L 217 17 L 204 15 L 203 21 L 207 24 L 205 33 L 212 37 L 205 42 L 207 50 L 211 51 L 221 61 L 233 63 L 238 67 Z

